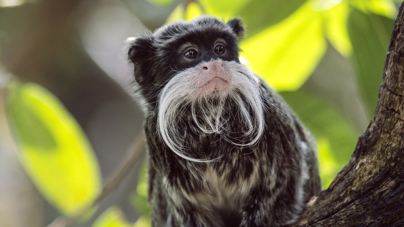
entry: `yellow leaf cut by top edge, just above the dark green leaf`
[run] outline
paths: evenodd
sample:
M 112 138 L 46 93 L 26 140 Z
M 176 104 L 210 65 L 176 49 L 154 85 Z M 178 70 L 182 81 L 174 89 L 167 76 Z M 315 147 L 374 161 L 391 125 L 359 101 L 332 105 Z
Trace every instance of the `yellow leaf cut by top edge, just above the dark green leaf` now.
M 363 13 L 373 13 L 395 19 L 397 8 L 392 0 L 350 0 L 349 3 Z

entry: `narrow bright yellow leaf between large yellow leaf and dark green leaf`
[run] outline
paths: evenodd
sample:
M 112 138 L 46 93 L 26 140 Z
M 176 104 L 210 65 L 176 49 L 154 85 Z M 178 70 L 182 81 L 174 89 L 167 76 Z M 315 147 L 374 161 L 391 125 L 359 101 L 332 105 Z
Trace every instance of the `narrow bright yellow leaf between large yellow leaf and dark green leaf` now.
M 342 2 L 324 11 L 327 39 L 343 56 L 352 52 L 352 44 L 348 35 L 349 6 Z

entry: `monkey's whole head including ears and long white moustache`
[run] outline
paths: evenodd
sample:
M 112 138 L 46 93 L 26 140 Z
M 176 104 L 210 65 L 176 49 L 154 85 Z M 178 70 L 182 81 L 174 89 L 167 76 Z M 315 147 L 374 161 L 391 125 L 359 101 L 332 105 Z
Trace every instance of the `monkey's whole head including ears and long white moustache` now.
M 201 161 L 184 155 L 184 127 L 199 134 L 221 134 L 237 145 L 254 144 L 262 134 L 259 80 L 238 58 L 243 31 L 239 19 L 224 23 L 199 17 L 166 25 L 129 43 L 146 111 L 158 115 L 161 138 L 185 159 Z M 234 124 L 248 141 L 229 134 Z

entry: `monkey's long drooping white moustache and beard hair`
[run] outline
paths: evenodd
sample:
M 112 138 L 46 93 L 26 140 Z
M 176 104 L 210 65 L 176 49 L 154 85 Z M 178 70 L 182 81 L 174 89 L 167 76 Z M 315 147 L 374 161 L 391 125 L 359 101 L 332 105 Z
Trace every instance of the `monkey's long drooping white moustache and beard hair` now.
M 200 77 L 199 68 L 179 71 L 167 83 L 159 96 L 158 103 L 158 132 L 167 146 L 179 157 L 193 162 L 212 162 L 214 160 L 195 159 L 185 152 L 187 150 L 179 128 L 180 119 L 187 109 L 191 111 L 192 120 L 201 132 L 217 133 L 228 142 L 238 146 L 256 144 L 264 131 L 264 108 L 258 78 L 246 66 L 235 61 L 223 61 L 222 67 L 229 73 L 229 89 L 214 91 L 211 94 L 201 94 L 195 81 Z M 202 63 L 201 63 L 202 64 Z M 242 138 L 226 136 L 228 119 L 226 104 L 236 105 L 237 113 L 241 117 L 240 124 L 246 130 Z M 231 132 L 234 133 L 234 132 Z M 230 138 L 229 138 L 230 137 Z M 248 138 L 248 139 L 246 139 Z M 247 141 L 244 141 L 244 140 Z M 237 140 L 237 141 L 234 141 Z M 189 156 L 190 155 L 190 156 Z

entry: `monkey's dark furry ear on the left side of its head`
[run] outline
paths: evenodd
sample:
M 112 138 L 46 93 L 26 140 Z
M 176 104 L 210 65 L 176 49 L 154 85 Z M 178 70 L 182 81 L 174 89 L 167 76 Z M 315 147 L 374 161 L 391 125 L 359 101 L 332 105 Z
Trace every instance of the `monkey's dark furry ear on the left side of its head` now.
M 135 80 L 139 84 L 150 80 L 150 72 L 153 69 L 153 59 L 156 48 L 153 35 L 146 35 L 140 38 L 129 38 L 127 40 L 129 50 L 128 58 L 133 62 Z

